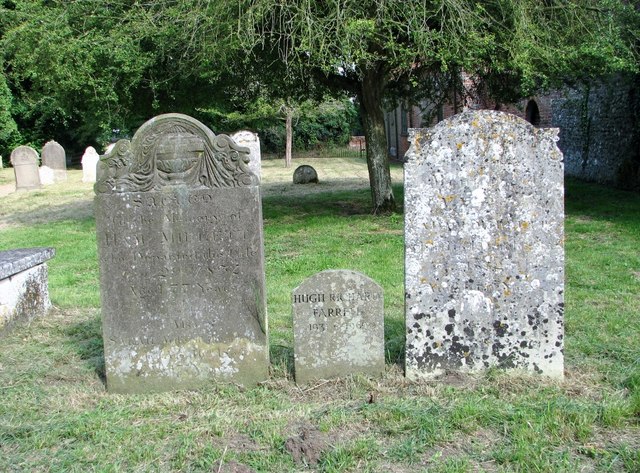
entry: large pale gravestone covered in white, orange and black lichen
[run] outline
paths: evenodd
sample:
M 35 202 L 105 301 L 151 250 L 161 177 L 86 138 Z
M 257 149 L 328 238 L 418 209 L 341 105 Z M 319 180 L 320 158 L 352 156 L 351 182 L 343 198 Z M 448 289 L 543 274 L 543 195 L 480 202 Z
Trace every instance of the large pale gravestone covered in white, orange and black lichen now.
M 405 172 L 406 375 L 563 376 L 558 130 L 465 112 L 413 130 Z

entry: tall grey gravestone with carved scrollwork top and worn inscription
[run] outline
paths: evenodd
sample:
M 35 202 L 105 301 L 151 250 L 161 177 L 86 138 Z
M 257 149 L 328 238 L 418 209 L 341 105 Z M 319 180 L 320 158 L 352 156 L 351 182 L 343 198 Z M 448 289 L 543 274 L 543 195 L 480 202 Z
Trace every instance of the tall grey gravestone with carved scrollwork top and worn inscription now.
M 267 378 L 262 210 L 248 149 L 167 114 L 98 163 L 107 387 Z

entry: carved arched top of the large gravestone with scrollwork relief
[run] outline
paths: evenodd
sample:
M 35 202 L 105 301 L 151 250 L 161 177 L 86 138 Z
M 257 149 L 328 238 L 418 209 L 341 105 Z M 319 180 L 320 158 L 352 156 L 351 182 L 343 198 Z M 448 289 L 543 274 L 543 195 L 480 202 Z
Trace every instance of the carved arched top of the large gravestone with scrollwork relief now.
M 120 140 L 98 164 L 96 192 L 145 192 L 166 186 L 231 188 L 257 184 L 249 149 L 200 121 L 169 113 Z

